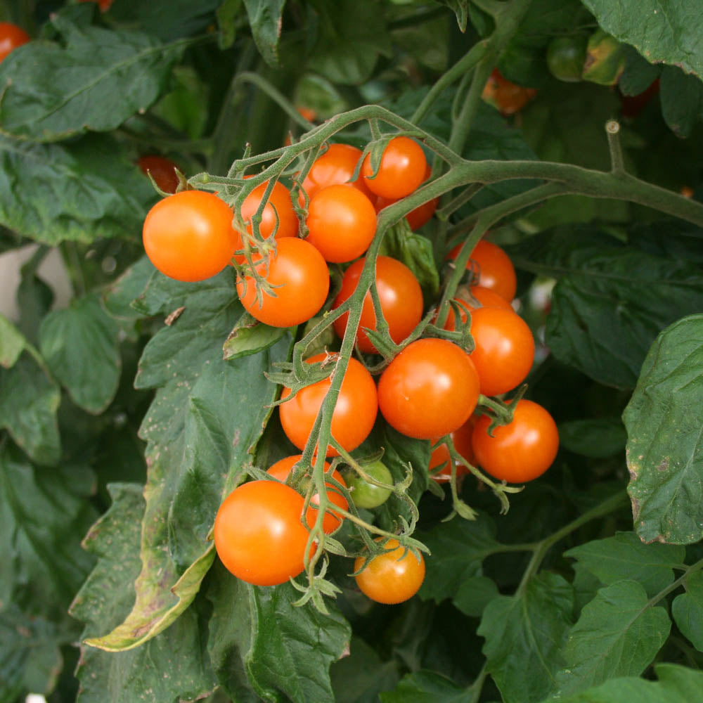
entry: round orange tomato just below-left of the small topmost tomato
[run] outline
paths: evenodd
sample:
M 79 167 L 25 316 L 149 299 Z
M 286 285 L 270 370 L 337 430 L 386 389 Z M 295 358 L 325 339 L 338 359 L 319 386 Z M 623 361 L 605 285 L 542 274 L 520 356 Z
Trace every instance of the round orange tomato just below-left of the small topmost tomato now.
M 341 264 L 366 252 L 376 233 L 376 211 L 354 186 L 340 183 L 321 188 L 310 200 L 306 241 L 325 261 Z

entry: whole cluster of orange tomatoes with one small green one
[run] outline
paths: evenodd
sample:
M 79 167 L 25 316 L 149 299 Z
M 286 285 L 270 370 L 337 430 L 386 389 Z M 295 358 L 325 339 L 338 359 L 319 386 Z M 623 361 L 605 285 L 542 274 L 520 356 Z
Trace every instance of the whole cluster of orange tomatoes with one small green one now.
M 140 162 L 145 172 L 159 165 Z M 167 170 L 170 175 L 171 169 Z M 354 174 L 359 176 L 354 179 Z M 300 184 L 299 205 L 307 203 L 306 238 L 298 236 L 299 219 L 288 188 L 280 182 L 272 188 L 269 183 L 254 188 L 240 210 L 247 233 L 253 235 L 252 219 L 261 209 L 258 236 L 276 241 L 266 255 L 256 249 L 250 253 L 253 270 L 242 267 L 236 290 L 243 307 L 260 322 L 285 328 L 308 321 L 325 303 L 334 313 L 359 285 L 364 255 L 375 237 L 378 210 L 413 193 L 429 175 L 423 148 L 406 136 L 390 139 L 376 172 L 361 150 L 330 145 Z M 430 200 L 408 214 L 411 227 L 423 226 L 436 207 L 437 200 Z M 157 202 L 144 222 L 143 243 L 156 268 L 177 280 L 204 280 L 232 262 L 247 262 L 243 236 L 233 228 L 231 207 L 218 195 L 204 191 L 177 191 Z M 456 259 L 460 249 L 451 250 L 448 259 Z M 344 266 L 340 290 L 330 302 L 328 264 Z M 466 463 L 477 463 L 499 481 L 530 481 L 553 463 L 557 429 L 541 406 L 518 400 L 512 408 L 512 421 L 490 434 L 490 418 L 475 415 L 480 395 L 498 396 L 523 382 L 534 360 L 535 345 L 527 323 L 512 308 L 515 269 L 501 247 L 479 241 L 467 269 L 472 285 L 458 292 L 444 328 L 454 330 L 457 316 L 463 323 L 470 316 L 473 351 L 467 353 L 446 339 L 420 338 L 401 349 L 382 370 L 378 382 L 359 359 L 349 359 L 330 425 L 334 441 L 323 452 L 327 457 L 338 456 L 337 446 L 354 451 L 368 437 L 380 412 L 395 430 L 436 445 L 427 470 L 438 482 L 451 475 L 451 456 L 443 444 L 448 436 Z M 265 285 L 257 287 L 257 278 Z M 427 307 L 420 284 L 408 266 L 379 256 L 375 288 L 389 336 L 402 346 Z M 347 332 L 348 318 L 348 311 L 333 317 L 333 328 L 340 338 Z M 367 292 L 355 339 L 359 352 L 378 353 L 366 333 L 376 328 Z M 342 360 L 339 354 L 323 352 L 306 361 L 329 368 L 331 373 Z M 296 393 L 283 388 L 280 423 L 298 451 L 307 446 L 330 385 L 328 376 Z M 319 450 L 317 447 L 316 453 Z M 367 481 L 353 470 L 344 475 L 333 471 L 320 458 L 330 507 L 318 515 L 315 506 L 320 498 L 315 495 L 304 510 L 301 492 L 307 490 L 314 469 L 302 466 L 302 456 L 292 454 L 269 467 L 270 479 L 238 486 L 217 512 L 217 553 L 229 571 L 247 583 L 271 586 L 300 574 L 305 555 L 313 555 L 316 549 L 310 530 L 319 524 L 325 534 L 336 531 L 349 508 L 346 496 L 354 500 L 356 491 L 356 507 L 373 509 L 392 493 L 392 477 L 382 462 L 366 467 Z M 291 475 L 295 467 L 299 468 Z M 458 476 L 469 471 L 465 463 L 455 469 Z M 425 575 L 422 555 L 406 550 L 396 540 L 387 540 L 382 546 L 383 553 L 357 558 L 357 585 L 378 602 L 411 598 Z

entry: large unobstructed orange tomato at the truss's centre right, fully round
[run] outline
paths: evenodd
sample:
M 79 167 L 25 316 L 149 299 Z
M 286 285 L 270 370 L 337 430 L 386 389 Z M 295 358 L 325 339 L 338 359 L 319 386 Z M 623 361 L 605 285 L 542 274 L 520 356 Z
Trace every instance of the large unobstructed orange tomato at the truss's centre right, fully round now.
M 408 344 L 383 371 L 378 406 L 389 425 L 408 437 L 432 439 L 458 430 L 473 413 L 479 376 L 453 342 Z

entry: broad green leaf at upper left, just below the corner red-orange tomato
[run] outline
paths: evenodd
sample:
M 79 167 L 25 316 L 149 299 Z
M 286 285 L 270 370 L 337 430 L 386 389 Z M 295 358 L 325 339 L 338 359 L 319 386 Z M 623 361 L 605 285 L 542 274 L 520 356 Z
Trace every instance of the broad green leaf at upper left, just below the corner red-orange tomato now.
M 0 130 L 32 141 L 109 131 L 164 91 L 184 44 L 147 34 L 79 27 L 60 13 L 60 41 L 32 41 L 0 65 Z

